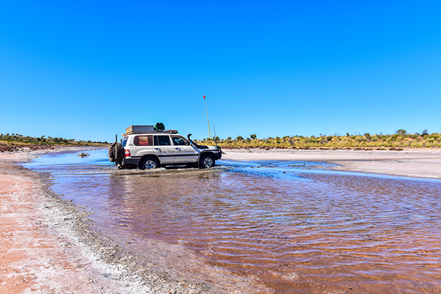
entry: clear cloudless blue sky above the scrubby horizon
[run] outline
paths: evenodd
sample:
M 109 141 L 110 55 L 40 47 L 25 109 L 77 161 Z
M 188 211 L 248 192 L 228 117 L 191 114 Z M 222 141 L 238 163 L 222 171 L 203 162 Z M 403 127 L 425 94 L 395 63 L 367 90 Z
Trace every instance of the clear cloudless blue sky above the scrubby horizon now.
M 0 132 L 441 132 L 441 1 L 2 1 Z M 211 134 L 214 135 L 213 129 Z

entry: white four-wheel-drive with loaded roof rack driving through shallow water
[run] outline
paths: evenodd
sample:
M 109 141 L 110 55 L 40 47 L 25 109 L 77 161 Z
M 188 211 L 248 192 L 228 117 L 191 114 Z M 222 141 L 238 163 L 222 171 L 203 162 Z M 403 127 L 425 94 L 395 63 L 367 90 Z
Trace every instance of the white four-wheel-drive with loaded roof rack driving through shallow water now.
M 174 130 L 156 131 L 153 126 L 130 126 L 121 144 L 112 144 L 109 159 L 119 168 L 155 169 L 166 165 L 214 167 L 222 156 L 220 147 L 202 146 Z

